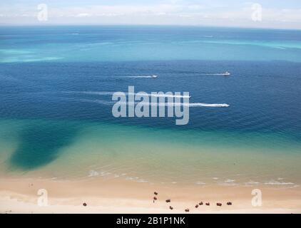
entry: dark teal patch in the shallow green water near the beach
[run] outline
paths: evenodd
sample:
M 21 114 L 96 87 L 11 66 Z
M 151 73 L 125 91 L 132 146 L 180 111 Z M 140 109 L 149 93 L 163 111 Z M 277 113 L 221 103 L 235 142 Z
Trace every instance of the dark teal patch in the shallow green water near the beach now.
M 70 145 L 77 133 L 73 125 L 34 123 L 20 132 L 20 143 L 11 155 L 11 165 L 21 170 L 33 170 L 47 165 L 59 156 L 61 149 Z

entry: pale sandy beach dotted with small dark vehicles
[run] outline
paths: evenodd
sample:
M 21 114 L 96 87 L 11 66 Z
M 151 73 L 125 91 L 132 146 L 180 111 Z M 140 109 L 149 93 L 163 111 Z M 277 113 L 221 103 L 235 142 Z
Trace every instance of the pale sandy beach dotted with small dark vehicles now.
M 0 180 L 1 213 L 300 213 L 300 187 L 257 186 L 262 206 L 253 207 L 255 187 L 151 185 L 121 180 Z M 48 206 L 37 194 L 47 190 Z M 154 194 L 158 199 L 153 202 Z M 170 199 L 171 202 L 165 202 Z M 203 202 L 195 208 L 195 205 Z M 205 203 L 210 202 L 210 206 Z M 232 205 L 227 205 L 232 202 Z M 86 203 L 86 207 L 83 206 Z M 216 204 L 222 203 L 221 207 Z M 173 207 L 171 210 L 169 207 Z

